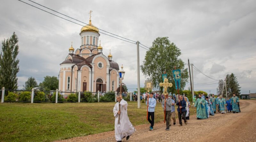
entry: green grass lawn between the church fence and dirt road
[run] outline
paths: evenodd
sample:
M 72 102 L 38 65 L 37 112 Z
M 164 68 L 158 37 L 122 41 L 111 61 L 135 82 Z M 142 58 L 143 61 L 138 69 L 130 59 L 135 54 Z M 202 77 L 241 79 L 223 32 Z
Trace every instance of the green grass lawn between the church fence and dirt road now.
M 114 105 L 115 102 L 1 103 L 0 141 L 53 141 L 113 131 Z M 134 126 L 149 124 L 146 110 L 144 103 L 138 109 L 137 102 L 128 101 L 128 116 Z M 155 123 L 163 120 L 161 103 L 157 103 Z

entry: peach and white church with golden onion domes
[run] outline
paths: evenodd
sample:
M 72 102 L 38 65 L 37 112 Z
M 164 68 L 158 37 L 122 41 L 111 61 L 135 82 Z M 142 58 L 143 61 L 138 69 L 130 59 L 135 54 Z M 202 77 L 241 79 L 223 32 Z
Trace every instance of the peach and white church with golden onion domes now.
M 103 48 L 98 45 L 99 29 L 89 24 L 82 27 L 81 46 L 69 48 L 69 54 L 60 64 L 60 92 L 109 92 L 119 86 L 119 65 L 102 54 Z

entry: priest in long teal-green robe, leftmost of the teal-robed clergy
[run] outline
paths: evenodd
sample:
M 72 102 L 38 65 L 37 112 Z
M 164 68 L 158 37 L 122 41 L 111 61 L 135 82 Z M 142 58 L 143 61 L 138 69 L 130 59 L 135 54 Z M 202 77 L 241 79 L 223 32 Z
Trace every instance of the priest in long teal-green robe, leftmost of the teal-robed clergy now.
M 196 117 L 197 119 L 207 119 L 205 100 L 201 97 L 201 94 L 198 94 L 198 99 L 196 100 Z

